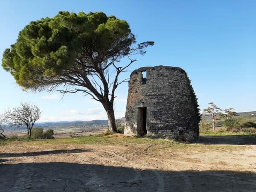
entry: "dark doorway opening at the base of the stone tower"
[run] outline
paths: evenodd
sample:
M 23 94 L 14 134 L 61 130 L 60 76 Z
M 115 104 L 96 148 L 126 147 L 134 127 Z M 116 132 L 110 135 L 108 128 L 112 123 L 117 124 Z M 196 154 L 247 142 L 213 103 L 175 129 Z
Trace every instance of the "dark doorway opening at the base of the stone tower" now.
M 137 133 L 139 136 L 147 134 L 147 108 L 138 108 Z

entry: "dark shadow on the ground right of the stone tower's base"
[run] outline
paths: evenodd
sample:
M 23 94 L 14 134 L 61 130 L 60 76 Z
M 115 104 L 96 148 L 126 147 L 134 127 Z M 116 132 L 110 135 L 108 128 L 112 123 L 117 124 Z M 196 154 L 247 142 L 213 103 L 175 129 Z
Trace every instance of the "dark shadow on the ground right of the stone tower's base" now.
M 198 141 L 194 143 L 201 144 L 224 144 L 224 145 L 256 145 L 256 136 L 244 136 L 244 135 L 207 135 L 200 136 Z

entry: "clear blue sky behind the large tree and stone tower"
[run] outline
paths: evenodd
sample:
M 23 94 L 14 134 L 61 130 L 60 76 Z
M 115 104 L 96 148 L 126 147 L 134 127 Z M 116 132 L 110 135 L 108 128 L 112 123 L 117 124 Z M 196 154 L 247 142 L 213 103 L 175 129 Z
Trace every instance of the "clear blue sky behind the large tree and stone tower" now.
M 54 3 L 53 3 L 54 2 Z M 9 0 L 0 2 L 0 59 L 31 20 L 58 11 L 96 12 L 127 20 L 138 42 L 155 41 L 137 56 L 139 67 L 168 65 L 188 73 L 201 109 L 256 111 L 256 1 L 253 0 Z M 128 78 L 130 72 L 122 74 Z M 101 104 L 82 94 L 23 92 L 0 67 L 0 113 L 23 102 L 38 104 L 40 122 L 106 119 Z M 116 117 L 125 116 L 128 83 L 116 91 Z

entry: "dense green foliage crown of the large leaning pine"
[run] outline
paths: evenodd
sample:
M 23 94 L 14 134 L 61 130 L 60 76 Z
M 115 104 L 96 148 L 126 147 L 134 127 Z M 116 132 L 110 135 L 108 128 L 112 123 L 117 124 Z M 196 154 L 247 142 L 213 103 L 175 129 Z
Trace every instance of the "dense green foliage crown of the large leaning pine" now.
M 135 43 L 125 20 L 103 12 L 59 12 L 26 25 L 16 43 L 4 51 L 2 66 L 25 90 L 41 90 L 69 78 L 84 59 L 83 67 L 90 68 L 94 61 L 89 56 L 104 67 L 113 55 L 128 55 Z M 143 48 L 153 44 L 143 42 L 136 50 L 144 54 Z

